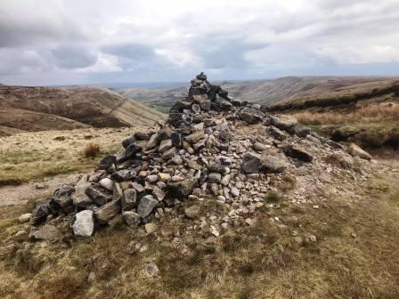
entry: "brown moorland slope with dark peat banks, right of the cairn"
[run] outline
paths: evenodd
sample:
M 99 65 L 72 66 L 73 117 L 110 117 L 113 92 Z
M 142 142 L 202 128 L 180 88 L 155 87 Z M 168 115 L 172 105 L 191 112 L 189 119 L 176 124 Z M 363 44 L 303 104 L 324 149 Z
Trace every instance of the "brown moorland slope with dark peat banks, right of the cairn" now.
M 399 149 L 399 78 L 327 91 L 315 87 L 265 109 L 292 114 L 303 125 L 311 125 L 335 141 Z

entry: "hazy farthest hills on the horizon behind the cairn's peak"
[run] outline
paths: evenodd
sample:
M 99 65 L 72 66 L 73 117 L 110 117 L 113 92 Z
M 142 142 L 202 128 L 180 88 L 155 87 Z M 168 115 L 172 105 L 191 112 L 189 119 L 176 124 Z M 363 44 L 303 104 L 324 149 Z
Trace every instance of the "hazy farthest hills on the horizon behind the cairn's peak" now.
M 242 101 L 272 104 L 297 94 L 330 92 L 350 85 L 385 80 L 387 78 L 384 77 L 281 77 L 273 80 L 219 81 L 216 84 L 222 85 L 230 95 Z M 177 99 L 186 96 L 188 88 L 189 85 L 153 89 L 128 88 L 118 89 L 118 92 L 151 107 L 165 110 Z

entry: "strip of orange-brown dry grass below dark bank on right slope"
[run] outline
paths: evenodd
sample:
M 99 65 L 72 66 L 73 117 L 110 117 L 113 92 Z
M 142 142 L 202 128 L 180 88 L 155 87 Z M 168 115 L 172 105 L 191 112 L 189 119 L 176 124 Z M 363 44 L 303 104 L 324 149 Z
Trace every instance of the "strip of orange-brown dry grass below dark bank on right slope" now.
M 352 113 L 339 112 L 299 112 L 294 114 L 303 125 L 342 125 L 362 121 L 387 121 L 399 119 L 399 104 L 374 104 L 356 109 Z

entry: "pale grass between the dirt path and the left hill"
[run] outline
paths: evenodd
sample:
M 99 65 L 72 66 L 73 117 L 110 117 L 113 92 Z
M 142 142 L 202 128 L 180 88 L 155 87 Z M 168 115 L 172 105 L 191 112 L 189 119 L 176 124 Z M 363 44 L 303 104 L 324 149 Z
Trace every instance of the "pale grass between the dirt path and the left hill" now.
M 0 186 L 93 169 L 99 157 L 120 150 L 132 129 L 23 133 L 0 139 Z M 112 133 L 112 138 L 110 138 Z M 63 138 L 52 138 L 53 136 Z M 87 143 L 87 136 L 93 141 Z M 28 141 L 24 142 L 24 141 Z M 100 150 L 101 149 L 101 150 Z

